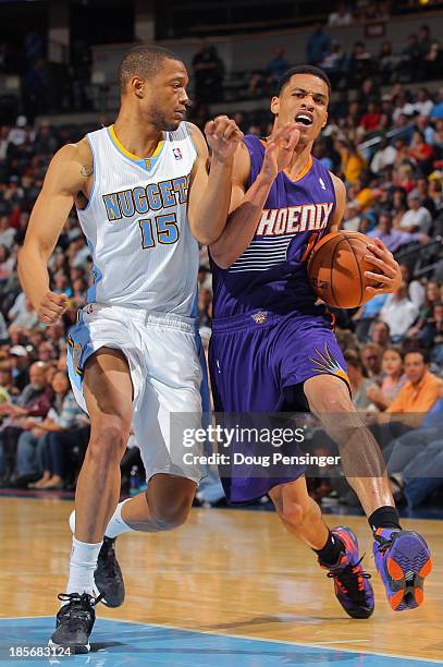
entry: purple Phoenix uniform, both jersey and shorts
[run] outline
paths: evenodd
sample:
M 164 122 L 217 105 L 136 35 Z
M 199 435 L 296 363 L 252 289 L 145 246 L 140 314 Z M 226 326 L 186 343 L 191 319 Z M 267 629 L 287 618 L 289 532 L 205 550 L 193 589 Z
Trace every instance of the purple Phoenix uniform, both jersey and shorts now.
M 264 146 L 256 136 L 246 136 L 245 144 L 250 154 L 249 186 L 261 169 Z M 211 259 L 214 317 L 209 367 L 216 411 L 225 413 L 227 422 L 235 422 L 234 415 L 306 409 L 300 388 L 315 375 L 348 381 L 331 316 L 315 305 L 306 272 L 309 252 L 328 233 L 334 210 L 332 178 L 310 158 L 296 181 L 279 173 L 243 255 L 229 269 Z M 258 442 L 232 445 L 232 454 L 254 456 L 259 450 Z M 283 446 L 282 453 L 296 453 L 295 445 Z M 304 472 L 303 466 L 292 466 L 263 475 L 262 469 L 249 464 L 224 466 L 220 475 L 227 500 L 244 502 Z

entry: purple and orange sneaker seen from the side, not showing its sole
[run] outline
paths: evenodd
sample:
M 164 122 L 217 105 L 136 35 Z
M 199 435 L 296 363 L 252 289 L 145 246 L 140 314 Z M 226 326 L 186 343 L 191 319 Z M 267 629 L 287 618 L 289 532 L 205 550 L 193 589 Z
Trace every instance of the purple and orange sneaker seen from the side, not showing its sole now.
M 339 526 L 331 533 L 343 544 L 343 551 L 335 563 L 323 562 L 328 577 L 334 580 L 335 597 L 352 618 L 369 618 L 373 611 L 374 598 L 371 575 L 361 567 L 357 537 L 348 527 Z

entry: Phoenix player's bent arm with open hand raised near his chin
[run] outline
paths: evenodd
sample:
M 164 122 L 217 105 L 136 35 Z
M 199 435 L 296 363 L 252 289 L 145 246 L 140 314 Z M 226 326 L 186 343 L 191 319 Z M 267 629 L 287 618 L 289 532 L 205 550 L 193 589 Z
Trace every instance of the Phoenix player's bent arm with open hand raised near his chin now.
M 250 157 L 244 144 L 234 156 L 230 216 L 220 238 L 211 244 L 212 259 L 229 268 L 251 242 L 260 220 L 272 183 L 286 169 L 298 143 L 299 131 L 295 123 L 286 123 L 269 138 L 260 173 L 246 191 L 250 172 Z

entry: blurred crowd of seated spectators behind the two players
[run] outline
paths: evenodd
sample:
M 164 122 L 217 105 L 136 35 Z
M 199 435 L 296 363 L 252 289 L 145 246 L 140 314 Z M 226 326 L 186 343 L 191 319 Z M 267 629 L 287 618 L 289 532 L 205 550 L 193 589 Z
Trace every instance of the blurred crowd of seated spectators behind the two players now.
M 269 76 L 287 64 L 276 50 Z M 393 489 L 415 506 L 443 481 L 443 470 L 440 474 L 436 466 L 430 481 L 424 465 L 431 452 L 443 462 L 438 426 L 443 415 L 443 88 L 411 92 L 397 82 L 381 94 L 380 83 L 365 75 L 350 102 L 347 92 L 341 92 L 313 154 L 345 182 L 344 228 L 379 237 L 402 264 L 403 283 L 395 294 L 335 315 L 353 400 L 372 420 L 392 459 Z M 205 105 L 193 113 L 205 122 Z M 246 133 L 271 132 L 264 104 L 262 112 L 238 111 L 234 117 Z M 21 290 L 16 256 L 51 156 L 94 129 L 54 128 L 45 121 L 32 125 L 24 116 L 13 126 L 0 128 L 0 477 L 5 486 L 73 488 L 88 440 L 87 415 L 76 407 L 65 373 L 67 330 L 85 303 L 90 269 L 75 211 L 49 266 L 51 289 L 70 299 L 61 324 L 38 323 Z M 200 265 L 199 323 L 207 345 L 211 274 L 206 248 Z M 420 437 L 414 440 L 409 416 L 418 413 L 413 426 Z M 415 465 L 423 471 L 418 489 Z M 135 466 L 141 470 L 141 462 L 137 448 L 131 448 L 123 465 L 126 489 Z M 349 500 L 352 495 L 348 487 L 324 481 L 312 493 L 319 500 L 334 495 Z

